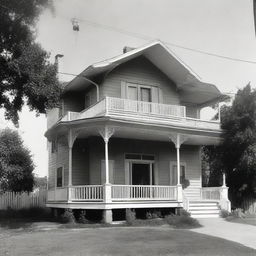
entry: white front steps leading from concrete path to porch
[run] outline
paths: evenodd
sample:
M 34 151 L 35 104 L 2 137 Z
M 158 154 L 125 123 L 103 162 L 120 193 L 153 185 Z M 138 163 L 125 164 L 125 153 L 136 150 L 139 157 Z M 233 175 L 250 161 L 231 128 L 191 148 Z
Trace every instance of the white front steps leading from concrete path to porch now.
M 219 203 L 204 200 L 190 201 L 189 212 L 193 218 L 219 218 Z

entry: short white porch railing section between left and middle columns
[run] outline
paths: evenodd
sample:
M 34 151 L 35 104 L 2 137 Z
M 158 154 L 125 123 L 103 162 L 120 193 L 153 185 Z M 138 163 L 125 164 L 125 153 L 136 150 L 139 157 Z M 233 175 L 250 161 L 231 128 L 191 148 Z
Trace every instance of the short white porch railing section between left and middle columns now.
M 70 188 L 70 200 L 72 201 L 102 201 L 103 186 L 102 185 L 87 185 L 73 186 Z

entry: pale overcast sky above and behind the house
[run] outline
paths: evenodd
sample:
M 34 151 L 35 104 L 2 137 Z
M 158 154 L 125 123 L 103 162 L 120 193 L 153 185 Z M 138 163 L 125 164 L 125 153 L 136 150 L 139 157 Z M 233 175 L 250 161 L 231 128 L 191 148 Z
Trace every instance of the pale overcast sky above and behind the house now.
M 64 54 L 60 71 L 78 74 L 88 65 L 160 39 L 206 82 L 223 92 L 256 84 L 256 64 L 235 62 L 171 46 L 256 62 L 252 0 L 54 0 L 45 11 L 37 41 L 51 53 Z M 80 31 L 72 30 L 71 19 Z M 69 81 L 72 76 L 61 76 Z M 1 115 L 1 126 L 7 123 Z M 19 131 L 34 156 L 35 173 L 47 175 L 43 115 L 24 109 Z

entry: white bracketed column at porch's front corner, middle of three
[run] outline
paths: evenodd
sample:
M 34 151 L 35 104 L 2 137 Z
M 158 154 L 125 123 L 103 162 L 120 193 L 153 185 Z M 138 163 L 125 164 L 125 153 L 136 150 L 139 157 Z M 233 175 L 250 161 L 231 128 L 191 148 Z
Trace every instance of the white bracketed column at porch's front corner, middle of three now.
M 111 202 L 111 184 L 109 182 L 109 157 L 108 157 L 108 142 L 111 136 L 114 134 L 114 129 L 105 126 L 104 129 L 99 130 L 105 143 L 105 184 L 103 184 L 104 189 L 104 202 Z

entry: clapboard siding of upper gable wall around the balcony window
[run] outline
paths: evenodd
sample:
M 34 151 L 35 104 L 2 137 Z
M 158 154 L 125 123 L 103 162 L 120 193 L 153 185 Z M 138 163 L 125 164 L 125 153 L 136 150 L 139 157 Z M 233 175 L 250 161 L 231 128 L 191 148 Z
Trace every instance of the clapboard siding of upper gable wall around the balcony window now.
M 121 98 L 121 82 L 157 86 L 162 90 L 162 103 L 180 104 L 176 85 L 145 57 L 128 61 L 110 72 L 100 88 L 101 98 Z

